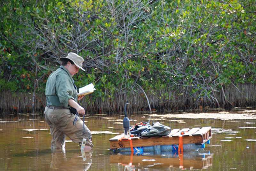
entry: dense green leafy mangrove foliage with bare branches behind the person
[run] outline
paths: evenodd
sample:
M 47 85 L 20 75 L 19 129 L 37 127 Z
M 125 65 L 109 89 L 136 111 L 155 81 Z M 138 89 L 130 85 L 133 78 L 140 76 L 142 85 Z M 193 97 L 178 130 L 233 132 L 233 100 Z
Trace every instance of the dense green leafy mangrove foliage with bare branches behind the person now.
M 231 83 L 255 83 L 255 3 L 239 1 L 1 1 L 1 90 L 43 92 L 58 58 L 76 52 L 93 98 L 141 85 L 213 98 Z M 184 92 L 184 90 L 187 92 Z M 154 91 L 154 92 L 155 92 Z M 160 100 L 170 99 L 161 93 Z M 213 100 L 214 101 L 214 100 Z

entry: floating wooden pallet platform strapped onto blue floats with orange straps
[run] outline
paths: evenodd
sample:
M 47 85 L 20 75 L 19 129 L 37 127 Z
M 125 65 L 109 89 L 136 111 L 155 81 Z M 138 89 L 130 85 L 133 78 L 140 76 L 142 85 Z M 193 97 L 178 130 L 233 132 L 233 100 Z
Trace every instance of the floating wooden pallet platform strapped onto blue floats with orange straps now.
M 212 127 L 173 129 L 161 137 L 127 137 L 124 134 L 111 139 L 110 148 L 119 151 L 143 153 L 145 151 L 190 151 L 204 148 L 212 139 Z

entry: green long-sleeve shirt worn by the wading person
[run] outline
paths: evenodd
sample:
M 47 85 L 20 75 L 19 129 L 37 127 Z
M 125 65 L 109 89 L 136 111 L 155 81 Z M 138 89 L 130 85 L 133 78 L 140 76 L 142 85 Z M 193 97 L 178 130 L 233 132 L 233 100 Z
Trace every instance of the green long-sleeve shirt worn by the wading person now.
M 45 87 L 46 105 L 68 108 L 68 100 L 77 102 L 77 89 L 68 70 L 60 66 L 48 78 Z

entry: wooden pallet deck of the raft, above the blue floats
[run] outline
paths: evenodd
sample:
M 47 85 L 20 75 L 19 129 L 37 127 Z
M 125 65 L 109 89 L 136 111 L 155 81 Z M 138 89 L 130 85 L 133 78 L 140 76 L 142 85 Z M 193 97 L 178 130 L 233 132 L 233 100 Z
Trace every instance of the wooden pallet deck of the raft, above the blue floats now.
M 184 134 L 181 134 L 183 132 Z M 130 137 L 124 138 L 124 134 L 117 135 L 111 139 L 110 148 L 126 148 L 130 147 L 132 141 L 133 147 L 141 146 L 157 146 L 157 145 L 173 145 L 179 144 L 179 137 L 183 137 L 183 144 L 204 144 L 212 138 L 211 127 L 173 129 L 167 136 L 162 137 Z

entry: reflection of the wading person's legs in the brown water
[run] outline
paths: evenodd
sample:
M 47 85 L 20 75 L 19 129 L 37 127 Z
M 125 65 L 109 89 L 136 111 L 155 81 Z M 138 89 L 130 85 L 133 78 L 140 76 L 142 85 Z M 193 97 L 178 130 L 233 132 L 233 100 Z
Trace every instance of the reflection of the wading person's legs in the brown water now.
M 52 170 L 86 171 L 92 165 L 92 153 L 92 151 L 84 152 L 81 150 L 82 156 L 68 157 L 65 151 L 53 151 L 50 168 Z

